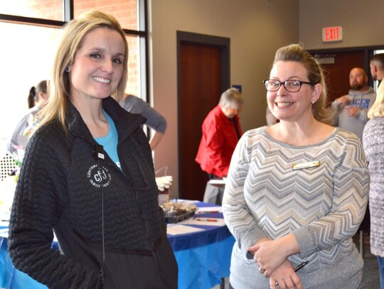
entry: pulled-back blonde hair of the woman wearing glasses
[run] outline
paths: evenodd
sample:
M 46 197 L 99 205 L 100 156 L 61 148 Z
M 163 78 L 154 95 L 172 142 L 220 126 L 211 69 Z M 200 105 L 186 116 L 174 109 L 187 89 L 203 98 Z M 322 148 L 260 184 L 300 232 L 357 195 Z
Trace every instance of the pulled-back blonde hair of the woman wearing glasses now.
M 310 55 L 301 45 L 291 44 L 279 48 L 274 55 L 273 64 L 278 61 L 295 61 L 302 63 L 306 68 L 307 77 L 309 82 L 314 84 L 321 84 L 323 91 L 319 99 L 312 105 L 312 114 L 314 118 L 324 124 L 333 125 L 334 123 L 334 109 L 327 105 L 326 82 L 324 80 L 324 73 L 319 63 L 315 58 Z

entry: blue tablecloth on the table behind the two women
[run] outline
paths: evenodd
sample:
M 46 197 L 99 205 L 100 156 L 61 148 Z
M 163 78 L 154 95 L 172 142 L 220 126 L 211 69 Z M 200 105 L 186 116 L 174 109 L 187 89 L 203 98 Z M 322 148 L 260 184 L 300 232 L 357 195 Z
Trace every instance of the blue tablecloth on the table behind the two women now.
M 196 205 L 215 206 L 203 202 Z M 199 217 L 222 218 L 223 214 L 199 214 Z M 168 236 L 178 263 L 178 289 L 209 289 L 221 283 L 221 278 L 229 276 L 230 256 L 235 239 L 225 226 L 190 226 L 204 231 Z M 56 249 L 57 246 L 57 243 L 53 244 Z M 45 285 L 14 268 L 4 235 L 0 236 L 0 288 L 47 289 Z

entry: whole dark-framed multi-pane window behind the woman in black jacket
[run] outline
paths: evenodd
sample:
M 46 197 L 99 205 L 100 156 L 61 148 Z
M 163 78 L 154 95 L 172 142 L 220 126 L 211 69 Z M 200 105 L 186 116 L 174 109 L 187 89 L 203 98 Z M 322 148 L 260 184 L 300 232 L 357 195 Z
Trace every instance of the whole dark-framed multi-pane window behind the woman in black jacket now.
M 147 99 L 146 0 L 13 0 L 0 6 L 0 152 L 28 109 L 29 89 L 50 77 L 61 27 L 90 9 L 115 16 L 129 45 L 127 93 Z M 6 45 L 4 45 L 6 43 Z M 6 97 L 6 100 L 5 100 Z

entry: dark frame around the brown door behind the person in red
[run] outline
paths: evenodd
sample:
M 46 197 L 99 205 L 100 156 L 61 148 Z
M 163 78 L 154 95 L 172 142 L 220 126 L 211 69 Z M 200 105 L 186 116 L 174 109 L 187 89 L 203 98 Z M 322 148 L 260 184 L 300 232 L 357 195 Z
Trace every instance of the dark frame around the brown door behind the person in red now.
M 220 90 L 230 87 L 230 38 L 208 36 L 205 34 L 176 31 L 177 50 L 177 132 L 178 132 L 178 192 L 181 197 L 183 175 L 181 174 L 181 43 L 207 45 L 220 49 Z

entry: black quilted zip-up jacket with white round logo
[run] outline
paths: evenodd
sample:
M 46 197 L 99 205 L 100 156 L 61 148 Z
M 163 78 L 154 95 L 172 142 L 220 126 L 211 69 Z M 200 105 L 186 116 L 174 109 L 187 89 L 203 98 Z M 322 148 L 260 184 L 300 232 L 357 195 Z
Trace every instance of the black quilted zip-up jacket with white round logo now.
M 9 225 L 11 260 L 49 288 L 177 288 L 145 118 L 111 97 L 102 106 L 117 128 L 122 170 L 68 103 L 69 132 L 53 121 L 28 143 Z M 53 229 L 64 254 L 50 248 Z

